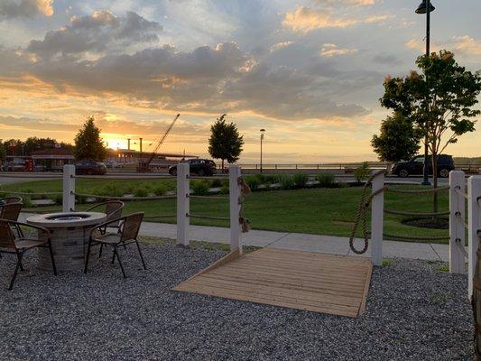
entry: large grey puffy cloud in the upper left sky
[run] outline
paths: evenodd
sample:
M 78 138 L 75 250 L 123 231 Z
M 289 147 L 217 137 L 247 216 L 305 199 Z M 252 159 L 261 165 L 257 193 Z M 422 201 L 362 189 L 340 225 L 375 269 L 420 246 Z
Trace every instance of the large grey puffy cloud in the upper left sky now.
M 27 51 L 42 58 L 57 55 L 77 56 L 84 52 L 101 52 L 107 49 L 157 42 L 160 23 L 150 22 L 133 12 L 116 17 L 108 10 L 99 10 L 88 16 L 73 16 L 70 24 L 47 32 L 41 41 L 33 40 Z

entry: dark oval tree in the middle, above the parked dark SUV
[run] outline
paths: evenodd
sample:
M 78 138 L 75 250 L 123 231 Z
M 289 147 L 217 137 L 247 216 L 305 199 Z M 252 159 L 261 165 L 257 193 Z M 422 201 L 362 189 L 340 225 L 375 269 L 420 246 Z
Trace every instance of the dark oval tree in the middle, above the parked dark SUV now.
M 208 140 L 208 153 L 213 158 L 222 160 L 222 170 L 224 161 L 233 163 L 239 159 L 244 145 L 244 137 L 239 135 L 234 123 L 226 123 L 226 117 L 227 114 L 223 114 L 210 126 L 211 134 Z

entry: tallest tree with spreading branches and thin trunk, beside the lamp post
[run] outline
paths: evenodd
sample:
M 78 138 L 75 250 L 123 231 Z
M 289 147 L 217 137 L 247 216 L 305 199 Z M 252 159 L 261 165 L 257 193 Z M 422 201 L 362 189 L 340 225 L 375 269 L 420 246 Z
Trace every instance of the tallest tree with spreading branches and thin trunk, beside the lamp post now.
M 481 114 L 473 109 L 481 92 L 481 74 L 458 65 L 450 51 L 439 51 L 416 60 L 422 70 L 412 70 L 404 79 L 384 80 L 381 105 L 406 116 L 426 138 L 432 160 L 433 186 L 438 188 L 438 155 L 462 134 L 475 131 L 473 117 Z M 434 192 L 434 212 L 438 196 Z

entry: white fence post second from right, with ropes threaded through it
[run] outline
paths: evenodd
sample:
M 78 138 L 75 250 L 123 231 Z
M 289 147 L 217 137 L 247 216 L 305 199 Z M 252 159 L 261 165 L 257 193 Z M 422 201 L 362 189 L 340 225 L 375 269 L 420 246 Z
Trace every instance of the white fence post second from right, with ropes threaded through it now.
M 466 243 L 466 230 L 460 220 L 466 219 L 466 199 L 457 190 L 466 192 L 464 171 L 449 172 L 449 272 L 466 273 L 465 255 L 461 247 Z M 460 216 L 460 218 L 459 218 Z

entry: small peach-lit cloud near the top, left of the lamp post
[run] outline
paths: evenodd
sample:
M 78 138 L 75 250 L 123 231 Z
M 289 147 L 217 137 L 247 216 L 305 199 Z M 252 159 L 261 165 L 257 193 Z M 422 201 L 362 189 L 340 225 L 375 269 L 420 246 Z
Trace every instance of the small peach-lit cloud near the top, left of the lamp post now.
M 315 10 L 307 6 L 297 6 L 293 12 L 285 14 L 282 22 L 294 32 L 310 32 L 321 28 L 345 28 L 357 23 L 354 19 L 336 19 L 328 10 Z

